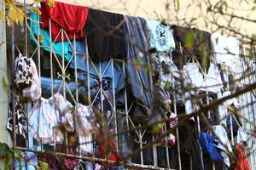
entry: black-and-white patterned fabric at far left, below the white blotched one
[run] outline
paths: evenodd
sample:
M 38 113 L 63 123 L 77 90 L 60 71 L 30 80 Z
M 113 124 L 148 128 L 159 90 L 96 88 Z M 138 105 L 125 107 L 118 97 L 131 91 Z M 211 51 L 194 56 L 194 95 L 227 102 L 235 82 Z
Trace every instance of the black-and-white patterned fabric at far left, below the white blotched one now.
M 24 139 L 26 139 L 26 133 L 27 133 L 27 122 L 26 122 L 26 116 L 25 116 L 25 110 L 23 105 L 20 103 L 19 98 L 15 98 L 15 115 L 16 115 L 16 133 L 18 135 L 21 135 Z M 7 120 L 7 126 L 6 128 L 9 130 L 9 132 L 13 132 L 13 103 L 12 99 L 9 98 L 9 110 L 8 110 L 8 120 Z

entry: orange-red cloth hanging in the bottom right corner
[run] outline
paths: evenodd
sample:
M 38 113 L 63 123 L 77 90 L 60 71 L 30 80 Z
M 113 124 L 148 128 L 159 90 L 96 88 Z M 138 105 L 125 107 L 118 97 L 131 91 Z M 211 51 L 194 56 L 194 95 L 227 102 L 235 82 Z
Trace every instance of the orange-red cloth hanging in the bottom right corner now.
M 241 145 L 236 144 L 237 160 L 234 170 L 252 170 L 250 164 L 247 161 L 247 156 L 243 152 Z

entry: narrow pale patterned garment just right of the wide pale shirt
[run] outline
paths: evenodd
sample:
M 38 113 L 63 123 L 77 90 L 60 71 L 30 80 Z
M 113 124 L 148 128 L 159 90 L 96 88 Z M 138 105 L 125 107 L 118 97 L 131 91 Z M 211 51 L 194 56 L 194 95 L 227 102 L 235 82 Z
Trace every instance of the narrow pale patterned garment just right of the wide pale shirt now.
M 80 150 L 89 154 L 93 152 L 92 133 L 94 130 L 94 113 L 90 106 L 77 103 L 73 112 L 76 122 L 76 133 L 79 135 Z

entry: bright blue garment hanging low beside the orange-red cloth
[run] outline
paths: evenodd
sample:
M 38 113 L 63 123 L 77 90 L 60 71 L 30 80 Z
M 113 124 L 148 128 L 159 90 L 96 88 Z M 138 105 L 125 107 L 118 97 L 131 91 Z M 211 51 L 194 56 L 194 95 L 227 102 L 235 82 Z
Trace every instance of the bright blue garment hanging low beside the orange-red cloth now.
M 213 138 L 210 133 L 201 133 L 199 140 L 202 150 L 206 151 L 213 161 L 223 161 L 222 156 L 220 156 L 217 148 L 213 145 Z

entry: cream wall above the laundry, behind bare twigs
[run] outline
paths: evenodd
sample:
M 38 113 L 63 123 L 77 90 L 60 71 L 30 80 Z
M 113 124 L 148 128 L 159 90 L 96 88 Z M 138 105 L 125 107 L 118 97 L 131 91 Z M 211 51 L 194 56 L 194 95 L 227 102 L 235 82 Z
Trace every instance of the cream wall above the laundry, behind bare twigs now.
M 32 2 L 33 0 L 26 0 L 26 2 Z M 219 0 L 55 0 L 64 3 L 72 3 L 81 6 L 88 6 L 91 8 L 98 8 L 102 10 L 112 11 L 120 14 L 131 14 L 135 16 L 142 16 L 150 19 L 166 19 L 171 24 L 177 24 L 179 26 L 186 25 L 185 22 L 196 18 L 193 22 L 193 26 L 202 30 L 215 31 L 216 26 L 205 20 L 214 20 L 218 22 L 220 26 L 228 26 L 229 17 L 220 16 L 219 14 L 207 13 L 207 7 L 210 2 L 212 6 Z M 177 11 L 177 1 L 179 2 L 179 10 Z M 20 0 L 23 2 L 23 0 Z M 256 20 L 256 10 L 252 10 L 255 3 L 253 1 L 238 1 L 238 0 L 226 0 L 227 5 L 230 7 L 224 13 L 236 14 L 246 19 Z M 170 8 L 166 8 L 166 4 Z M 184 22 L 185 21 L 185 22 Z M 234 18 L 230 22 L 230 27 L 236 31 L 241 32 L 244 35 L 252 35 L 256 32 L 255 22 L 249 22 L 246 20 L 240 20 Z M 220 32 L 221 30 L 218 30 Z M 225 32 L 230 34 L 230 32 Z

